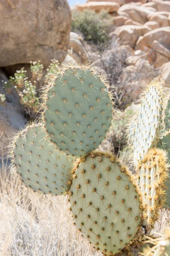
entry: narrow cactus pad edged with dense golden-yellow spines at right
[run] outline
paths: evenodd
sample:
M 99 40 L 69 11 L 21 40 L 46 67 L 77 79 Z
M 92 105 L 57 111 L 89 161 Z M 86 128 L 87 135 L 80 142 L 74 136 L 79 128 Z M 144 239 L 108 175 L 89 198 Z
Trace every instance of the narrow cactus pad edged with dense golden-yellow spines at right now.
M 136 171 L 144 204 L 144 225 L 148 230 L 158 219 L 159 209 L 166 200 L 165 182 L 168 180 L 168 168 L 166 152 L 151 148 Z

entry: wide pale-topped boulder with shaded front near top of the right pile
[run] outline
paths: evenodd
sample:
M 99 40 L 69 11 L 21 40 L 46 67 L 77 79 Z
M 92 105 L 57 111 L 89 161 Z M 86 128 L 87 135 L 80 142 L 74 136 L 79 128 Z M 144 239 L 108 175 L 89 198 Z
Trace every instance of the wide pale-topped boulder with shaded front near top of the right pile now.
M 146 23 L 148 21 L 147 16 L 149 14 L 154 13 L 153 10 L 151 11 L 147 7 L 136 6 L 136 5 L 133 5 L 133 4 L 130 4 L 130 3 L 121 6 L 119 8 L 119 12 L 125 12 L 131 20 L 134 20 L 134 21 L 139 22 L 141 24 Z

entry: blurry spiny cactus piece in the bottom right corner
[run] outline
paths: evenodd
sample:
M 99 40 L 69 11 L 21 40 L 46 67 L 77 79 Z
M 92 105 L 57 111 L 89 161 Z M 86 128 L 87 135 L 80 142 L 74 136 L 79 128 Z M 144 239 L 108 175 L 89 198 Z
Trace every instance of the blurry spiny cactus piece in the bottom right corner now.
M 144 256 L 170 256 L 170 229 L 166 229 L 162 237 L 149 239 L 153 247 L 147 247 L 141 255 Z

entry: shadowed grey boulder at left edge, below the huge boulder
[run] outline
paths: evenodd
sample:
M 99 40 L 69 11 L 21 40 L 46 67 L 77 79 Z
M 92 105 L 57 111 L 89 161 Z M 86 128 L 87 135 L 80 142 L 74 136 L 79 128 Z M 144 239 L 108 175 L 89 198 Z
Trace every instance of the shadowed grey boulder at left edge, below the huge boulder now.
M 6 101 L 0 104 L 0 160 L 8 155 L 8 145 L 13 133 L 24 128 L 27 120 L 23 116 L 17 91 L 10 85 L 6 75 L 0 70 L 0 94 L 5 94 Z

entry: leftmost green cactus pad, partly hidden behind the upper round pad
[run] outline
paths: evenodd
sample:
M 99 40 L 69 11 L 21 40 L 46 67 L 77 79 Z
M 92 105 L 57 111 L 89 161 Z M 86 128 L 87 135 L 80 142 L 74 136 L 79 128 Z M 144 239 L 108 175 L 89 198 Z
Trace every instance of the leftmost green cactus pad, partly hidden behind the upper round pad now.
M 12 144 L 14 166 L 26 186 L 40 194 L 67 194 L 73 157 L 59 153 L 49 143 L 42 125 L 26 127 Z

